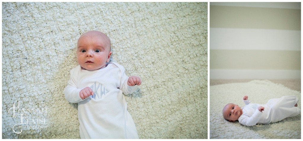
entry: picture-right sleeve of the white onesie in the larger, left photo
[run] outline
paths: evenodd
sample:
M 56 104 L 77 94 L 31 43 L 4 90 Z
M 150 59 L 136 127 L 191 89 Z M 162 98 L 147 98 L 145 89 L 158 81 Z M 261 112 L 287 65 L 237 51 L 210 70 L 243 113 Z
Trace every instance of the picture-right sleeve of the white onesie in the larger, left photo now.
M 124 67 L 122 65 L 118 65 L 118 67 L 120 68 L 120 72 L 121 72 L 121 79 L 120 79 L 120 87 L 119 87 L 119 89 L 122 90 L 122 92 L 124 94 L 126 94 L 126 95 L 130 94 L 130 93 L 134 93 L 135 90 L 137 90 L 139 86 L 138 85 L 128 86 L 127 85 L 128 76 L 125 74 Z

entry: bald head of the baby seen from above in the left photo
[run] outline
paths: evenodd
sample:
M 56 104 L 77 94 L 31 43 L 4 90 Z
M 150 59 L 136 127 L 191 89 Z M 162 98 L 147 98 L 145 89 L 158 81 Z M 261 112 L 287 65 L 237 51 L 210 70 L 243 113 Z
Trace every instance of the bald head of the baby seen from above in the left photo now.
M 102 32 L 88 31 L 78 39 L 77 61 L 87 70 L 106 67 L 111 55 L 111 41 Z

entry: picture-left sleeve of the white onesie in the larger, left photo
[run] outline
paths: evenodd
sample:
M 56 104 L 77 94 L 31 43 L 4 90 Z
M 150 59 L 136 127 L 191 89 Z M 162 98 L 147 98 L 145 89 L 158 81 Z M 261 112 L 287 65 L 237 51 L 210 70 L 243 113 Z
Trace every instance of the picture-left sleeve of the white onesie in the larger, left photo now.
M 76 68 L 73 68 L 70 71 L 70 80 L 68 80 L 67 86 L 64 89 L 65 99 L 71 103 L 78 103 L 80 101 L 83 101 L 79 95 L 79 92 L 82 89 L 78 89 L 76 82 L 77 76 L 78 72 L 76 71 Z

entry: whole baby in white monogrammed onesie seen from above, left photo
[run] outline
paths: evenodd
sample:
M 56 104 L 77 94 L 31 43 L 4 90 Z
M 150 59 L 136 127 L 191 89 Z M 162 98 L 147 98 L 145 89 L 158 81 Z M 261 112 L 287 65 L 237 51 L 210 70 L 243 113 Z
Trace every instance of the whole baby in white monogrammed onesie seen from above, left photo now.
M 124 94 L 142 80 L 128 77 L 123 66 L 110 62 L 111 41 L 99 31 L 88 31 L 77 44 L 78 66 L 70 71 L 65 98 L 78 103 L 81 139 L 138 139 Z

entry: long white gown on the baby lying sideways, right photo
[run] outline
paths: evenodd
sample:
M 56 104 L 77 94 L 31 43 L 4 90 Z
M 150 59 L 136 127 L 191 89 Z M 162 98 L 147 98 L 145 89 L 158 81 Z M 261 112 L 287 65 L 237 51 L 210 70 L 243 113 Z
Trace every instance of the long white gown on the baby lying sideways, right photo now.
M 298 103 L 295 96 L 283 96 L 268 100 L 266 104 L 253 104 L 249 100 L 244 100 L 243 114 L 239 117 L 239 123 L 245 126 L 256 124 L 275 123 L 287 117 L 297 116 L 301 109 L 294 107 Z M 258 110 L 259 106 L 264 107 L 264 111 Z

